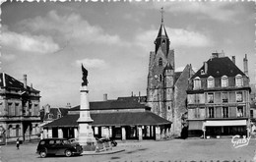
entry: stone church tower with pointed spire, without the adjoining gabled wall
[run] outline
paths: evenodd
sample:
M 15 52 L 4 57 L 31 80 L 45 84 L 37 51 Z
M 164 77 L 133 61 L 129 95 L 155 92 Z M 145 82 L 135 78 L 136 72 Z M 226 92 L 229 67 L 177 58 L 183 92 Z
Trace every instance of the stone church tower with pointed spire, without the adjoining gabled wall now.
M 155 51 L 150 53 L 147 103 L 154 113 L 172 121 L 174 51 L 169 49 L 170 41 L 163 24 L 162 10 L 161 8 L 161 23 L 155 40 Z

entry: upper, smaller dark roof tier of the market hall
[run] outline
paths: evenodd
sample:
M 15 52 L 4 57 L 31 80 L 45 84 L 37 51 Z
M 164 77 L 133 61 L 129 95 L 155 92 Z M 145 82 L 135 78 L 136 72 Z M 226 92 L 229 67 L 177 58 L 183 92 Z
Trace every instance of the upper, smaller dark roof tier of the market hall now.
M 145 104 L 138 101 L 132 101 L 132 99 L 120 99 L 119 100 L 107 100 L 90 102 L 90 110 L 112 110 L 112 109 L 138 109 L 147 107 Z M 71 108 L 70 111 L 80 110 L 80 105 Z

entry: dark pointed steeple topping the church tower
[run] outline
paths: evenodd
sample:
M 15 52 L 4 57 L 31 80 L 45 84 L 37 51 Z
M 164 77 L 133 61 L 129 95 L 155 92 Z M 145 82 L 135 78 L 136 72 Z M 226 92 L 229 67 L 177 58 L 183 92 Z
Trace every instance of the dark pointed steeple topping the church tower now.
M 161 8 L 161 23 L 158 37 L 155 40 L 156 48 L 155 52 L 157 53 L 159 48 L 161 47 L 162 52 L 167 56 L 169 51 L 169 38 L 166 32 L 166 29 L 163 24 L 163 7 Z

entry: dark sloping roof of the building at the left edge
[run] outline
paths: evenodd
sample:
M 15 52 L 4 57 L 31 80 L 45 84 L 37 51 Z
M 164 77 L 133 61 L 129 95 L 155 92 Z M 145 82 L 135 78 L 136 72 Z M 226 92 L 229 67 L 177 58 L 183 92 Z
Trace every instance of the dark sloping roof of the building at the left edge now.
M 25 90 L 23 82 L 18 81 L 15 78 L 13 78 L 13 77 L 5 74 L 5 73 L 0 73 L 0 86 L 1 87 L 3 87 L 3 86 L 13 87 L 13 88 L 18 88 L 18 89 L 21 89 L 21 90 Z M 39 92 L 38 90 L 36 90 L 36 89 L 34 89 L 30 86 L 27 86 L 27 89 Z

